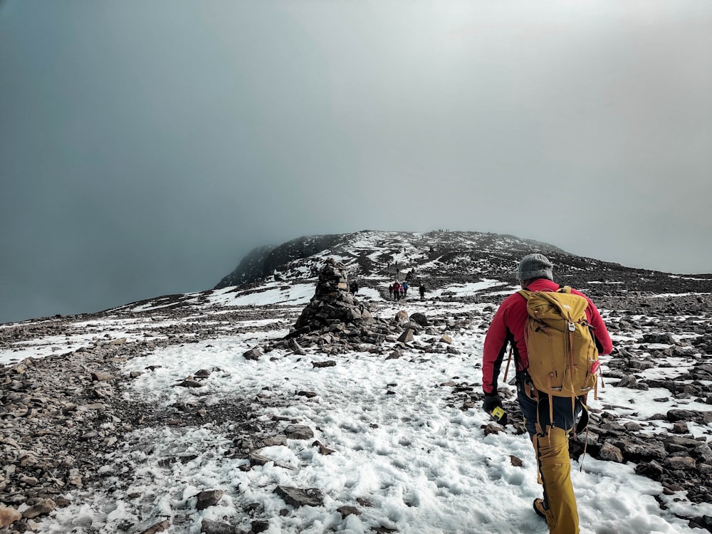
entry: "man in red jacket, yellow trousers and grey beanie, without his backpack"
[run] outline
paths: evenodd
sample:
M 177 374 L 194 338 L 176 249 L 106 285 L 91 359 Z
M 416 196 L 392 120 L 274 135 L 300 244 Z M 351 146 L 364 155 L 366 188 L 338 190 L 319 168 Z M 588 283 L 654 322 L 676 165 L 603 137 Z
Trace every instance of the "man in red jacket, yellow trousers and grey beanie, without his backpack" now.
M 555 291 L 560 286 L 553 281 L 552 263 L 542 254 L 529 254 L 522 258 L 517 277 L 522 288 L 531 291 Z M 595 341 L 600 355 L 613 350 L 611 337 L 601 314 L 590 298 L 575 289 L 575 295 L 588 300 L 586 316 L 595 329 Z M 534 444 L 544 498 L 535 499 L 534 510 L 546 519 L 551 534 L 578 534 L 578 511 L 571 485 L 571 464 L 568 436 L 582 413 L 582 402 L 577 399 L 575 410 L 568 397 L 549 397 L 533 387 L 527 368 L 529 359 L 525 342 L 527 300 L 519 293 L 509 295 L 500 305 L 487 330 L 482 362 L 482 389 L 485 394 L 483 409 L 491 413 L 502 407 L 497 392 L 497 379 L 507 346 L 513 348 L 517 384 L 517 399 L 524 415 L 525 426 Z M 553 409 L 549 409 L 549 403 Z M 549 414 L 553 420 L 549 420 Z M 539 419 L 537 419 L 537 417 Z M 540 424 L 537 431 L 537 421 Z

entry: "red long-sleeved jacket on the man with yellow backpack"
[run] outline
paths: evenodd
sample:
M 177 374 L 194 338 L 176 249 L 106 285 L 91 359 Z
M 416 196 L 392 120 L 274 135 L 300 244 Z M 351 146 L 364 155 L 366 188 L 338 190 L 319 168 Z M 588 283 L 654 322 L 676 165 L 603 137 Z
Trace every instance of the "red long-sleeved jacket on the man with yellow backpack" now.
M 552 290 L 555 291 L 560 286 L 547 280 L 539 278 L 529 284 L 528 289 L 532 291 Z M 595 328 L 596 345 L 601 355 L 610 354 L 613 350 L 613 343 L 608 334 L 606 325 L 601 318 L 601 314 L 592 303 L 591 299 L 575 289 L 571 290 L 575 295 L 581 295 L 588 300 L 586 317 L 589 324 Z M 524 341 L 524 331 L 527 320 L 527 300 L 519 293 L 513 293 L 504 299 L 497 313 L 494 315 L 492 324 L 487 330 L 485 337 L 484 354 L 482 358 L 482 389 L 485 393 L 496 392 L 499 371 L 504 360 L 508 343 L 514 347 L 514 360 L 516 370 L 520 371 L 529 367 L 529 356 L 527 345 Z

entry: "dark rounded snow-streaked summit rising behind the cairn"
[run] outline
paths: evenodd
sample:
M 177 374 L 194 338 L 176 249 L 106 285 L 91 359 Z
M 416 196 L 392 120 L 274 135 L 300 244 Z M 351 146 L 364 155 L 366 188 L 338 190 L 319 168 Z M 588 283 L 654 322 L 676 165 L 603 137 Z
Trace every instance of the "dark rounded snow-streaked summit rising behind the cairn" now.
M 384 288 L 394 280 L 407 279 L 441 288 L 452 283 L 484 278 L 513 283 L 520 258 L 544 253 L 553 261 L 555 278 L 581 286 L 615 281 L 609 291 L 686 290 L 690 278 L 628 268 L 594 258 L 567 253 L 548 243 L 515 236 L 477 231 L 393 232 L 364 230 L 354 234 L 304 236 L 279 246 L 255 248 L 239 266 L 214 287 L 242 286 L 272 281 L 304 281 L 317 276 L 326 258 L 347 268 L 362 286 Z M 663 275 L 661 277 L 661 275 Z M 664 283 L 661 284 L 661 280 Z M 710 277 L 697 279 L 710 290 Z M 600 288 L 599 288 L 600 289 Z M 600 293 L 597 291 L 596 293 Z

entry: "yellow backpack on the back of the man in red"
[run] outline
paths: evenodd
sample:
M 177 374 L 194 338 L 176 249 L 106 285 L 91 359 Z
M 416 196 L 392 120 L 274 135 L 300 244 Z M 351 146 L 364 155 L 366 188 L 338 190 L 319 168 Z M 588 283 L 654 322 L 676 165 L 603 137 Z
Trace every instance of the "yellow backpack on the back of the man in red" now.
M 598 350 L 586 318 L 588 300 L 568 286 L 519 294 L 527 299 L 525 341 L 536 389 L 572 399 L 591 389 L 597 394 Z

